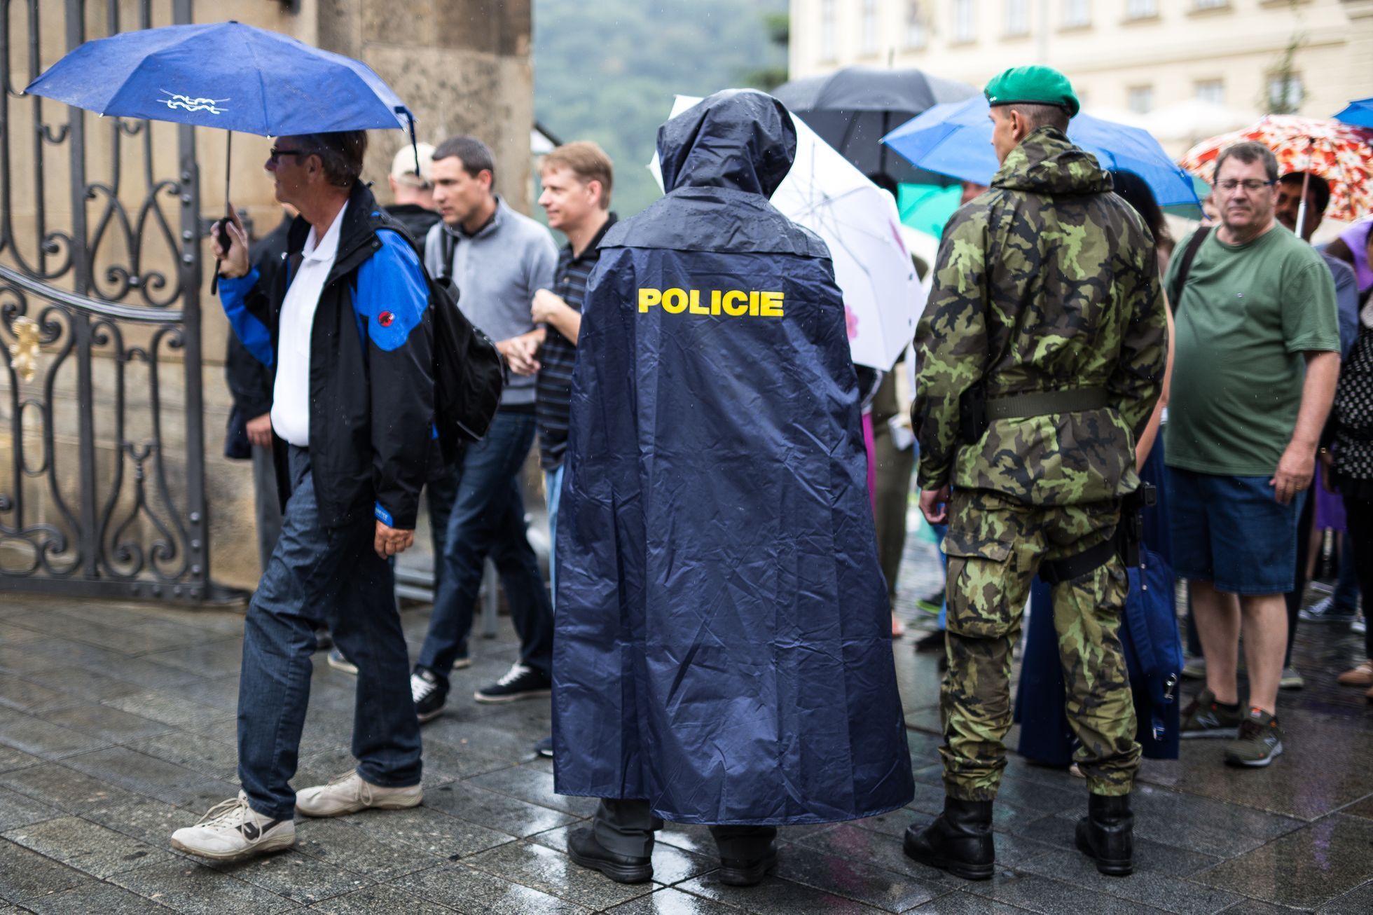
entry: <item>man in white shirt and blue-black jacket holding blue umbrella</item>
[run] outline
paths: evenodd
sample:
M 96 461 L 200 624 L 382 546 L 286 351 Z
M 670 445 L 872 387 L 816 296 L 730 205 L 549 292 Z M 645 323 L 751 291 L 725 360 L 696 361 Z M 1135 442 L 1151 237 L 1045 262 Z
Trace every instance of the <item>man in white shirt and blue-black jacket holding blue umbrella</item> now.
M 266 169 L 299 210 L 284 268 L 258 272 L 238 218 L 216 243 L 233 332 L 273 374 L 281 536 L 243 622 L 242 791 L 172 846 L 217 861 L 295 844 L 294 816 L 422 800 L 420 732 L 390 558 L 415 541 L 437 456 L 432 331 L 419 256 L 358 180 L 367 133 L 279 137 Z M 295 793 L 314 625 L 357 664 L 356 768 Z

